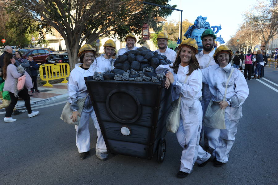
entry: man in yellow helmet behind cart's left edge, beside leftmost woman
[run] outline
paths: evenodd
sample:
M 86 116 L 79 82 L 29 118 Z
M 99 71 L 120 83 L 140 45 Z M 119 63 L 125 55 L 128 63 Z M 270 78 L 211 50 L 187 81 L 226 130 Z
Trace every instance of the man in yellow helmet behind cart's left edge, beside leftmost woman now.
M 95 71 L 97 72 L 106 72 L 114 69 L 113 53 L 115 52 L 116 44 L 113 40 L 109 39 L 104 43 L 104 53 L 100 57 L 96 58 L 96 61 L 93 63 Z

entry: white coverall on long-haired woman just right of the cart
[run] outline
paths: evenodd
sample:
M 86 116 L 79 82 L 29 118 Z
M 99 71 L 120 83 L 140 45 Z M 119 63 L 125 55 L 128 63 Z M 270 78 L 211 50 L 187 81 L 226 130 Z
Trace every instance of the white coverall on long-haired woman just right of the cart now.
M 170 64 L 171 66 L 173 64 Z M 172 84 L 172 100 L 181 96 L 180 103 L 180 125 L 176 133 L 179 144 L 183 148 L 181 156 L 180 171 L 190 173 L 194 163 L 202 164 L 207 161 L 211 155 L 205 152 L 199 145 L 200 132 L 202 127 L 202 107 L 199 98 L 202 96 L 202 73 L 200 69 L 194 70 L 186 79 L 189 71 L 189 65 L 183 67 L 179 65 L 178 73 L 169 65 L 159 65 L 155 70 L 157 74 L 169 70 L 174 75 Z

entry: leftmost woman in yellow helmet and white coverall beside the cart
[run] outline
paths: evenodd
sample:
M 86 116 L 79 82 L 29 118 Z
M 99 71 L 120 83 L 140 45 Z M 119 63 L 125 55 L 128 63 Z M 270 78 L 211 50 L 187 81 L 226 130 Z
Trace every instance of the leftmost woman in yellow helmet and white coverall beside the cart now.
M 79 126 L 75 125 L 76 130 L 76 146 L 80 153 L 80 159 L 85 159 L 90 150 L 90 132 L 89 132 L 89 119 L 92 118 L 95 128 L 97 129 L 97 143 L 95 146 L 96 155 L 99 159 L 107 159 L 107 149 L 99 123 L 97 121 L 94 108 L 91 103 L 90 96 L 88 95 L 87 87 L 85 85 L 84 77 L 93 76 L 95 69 L 93 68 L 93 61 L 95 60 L 96 51 L 92 46 L 85 44 L 79 49 L 78 57 L 80 57 L 79 64 L 75 65 L 75 68 L 70 72 L 70 78 L 68 82 L 68 101 L 71 103 L 73 114 L 71 119 L 77 121 L 77 116 L 80 116 Z M 77 100 L 85 98 L 84 107 L 82 112 L 78 112 Z

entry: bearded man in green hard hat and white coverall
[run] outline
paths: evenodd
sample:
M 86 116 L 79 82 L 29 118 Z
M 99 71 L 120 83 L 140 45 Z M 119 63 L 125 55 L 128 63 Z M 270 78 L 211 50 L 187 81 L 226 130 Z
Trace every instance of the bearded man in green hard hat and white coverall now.
M 215 60 L 213 59 L 213 55 L 215 52 L 214 49 L 214 44 L 215 41 L 214 39 L 216 39 L 215 33 L 213 32 L 212 29 L 206 29 L 204 30 L 202 36 L 202 44 L 203 44 L 203 49 L 200 53 L 198 53 L 196 55 L 196 58 L 199 62 L 200 68 L 205 69 L 210 65 L 215 65 Z M 204 117 L 204 113 L 208 107 L 208 103 L 211 99 L 211 93 L 209 92 L 209 88 L 208 88 L 208 84 L 202 84 L 202 99 L 200 100 L 201 105 L 202 105 L 202 109 L 203 109 L 203 117 Z M 205 150 L 207 150 L 208 148 L 208 140 L 206 137 L 206 128 L 204 126 L 202 126 L 202 130 L 200 133 L 200 140 L 202 138 L 204 132 L 204 145 L 205 145 Z

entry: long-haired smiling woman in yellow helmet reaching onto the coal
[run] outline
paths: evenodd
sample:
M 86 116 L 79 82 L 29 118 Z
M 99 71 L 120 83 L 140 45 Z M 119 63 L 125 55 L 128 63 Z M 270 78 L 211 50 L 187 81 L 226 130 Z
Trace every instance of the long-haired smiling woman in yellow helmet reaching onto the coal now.
M 168 88 L 170 83 L 172 84 L 173 101 L 182 95 L 180 126 L 176 133 L 179 144 L 183 147 L 178 178 L 185 178 L 191 173 L 196 161 L 200 166 L 204 166 L 211 156 L 199 145 L 202 128 L 202 106 L 199 101 L 202 96 L 202 73 L 195 57 L 197 52 L 196 40 L 192 38 L 183 40 L 179 45 L 175 62 L 170 65 L 159 65 L 155 70 L 158 74 L 168 71 L 165 87 Z

